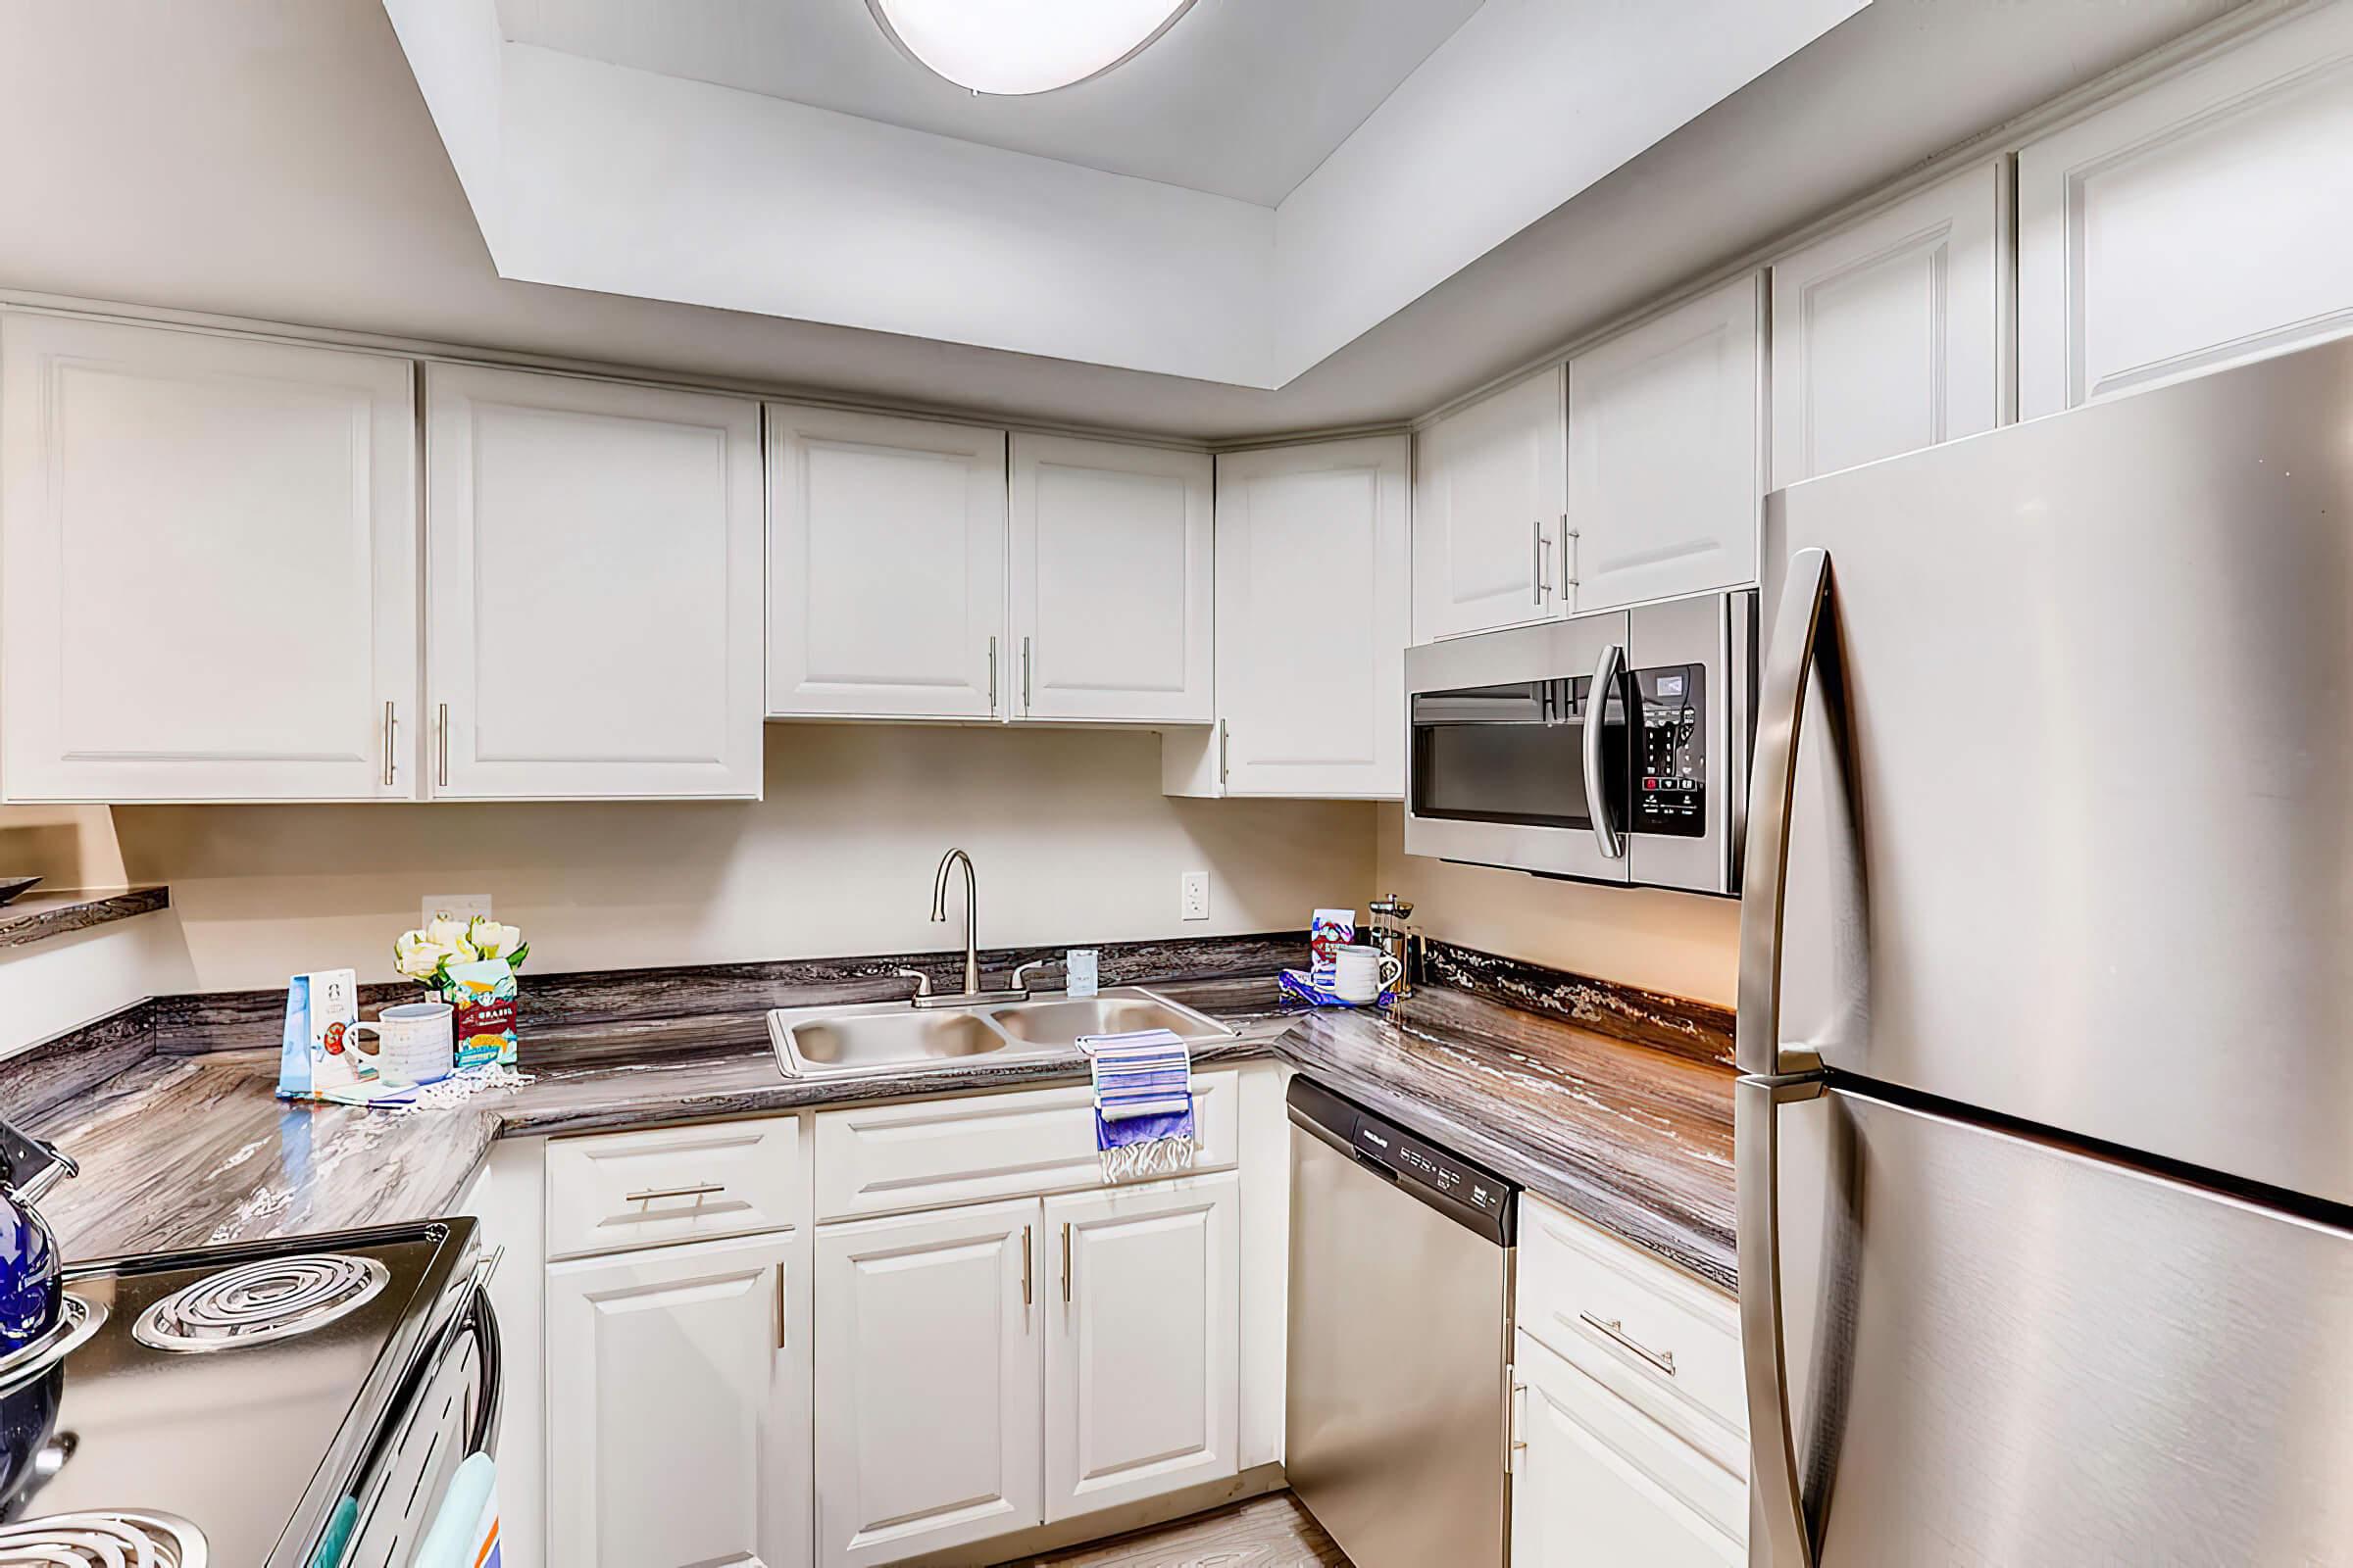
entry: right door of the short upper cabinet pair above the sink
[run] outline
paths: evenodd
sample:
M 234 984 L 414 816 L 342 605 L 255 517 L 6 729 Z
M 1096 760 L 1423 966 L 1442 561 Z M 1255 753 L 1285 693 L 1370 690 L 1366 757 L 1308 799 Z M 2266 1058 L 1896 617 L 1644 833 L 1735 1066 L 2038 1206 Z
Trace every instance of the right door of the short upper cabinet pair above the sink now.
M 1214 717 L 1209 508 L 1207 454 L 1014 435 L 1014 717 Z

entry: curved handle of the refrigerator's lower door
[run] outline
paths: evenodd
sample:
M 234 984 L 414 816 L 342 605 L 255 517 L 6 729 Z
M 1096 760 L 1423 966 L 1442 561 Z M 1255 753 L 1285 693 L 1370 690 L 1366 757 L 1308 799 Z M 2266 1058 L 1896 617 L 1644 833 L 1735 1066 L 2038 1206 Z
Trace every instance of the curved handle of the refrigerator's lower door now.
M 1734 1215 L 1741 1269 L 1741 1363 L 1748 1375 L 1748 1446 L 1755 1462 L 1753 1568 L 1814 1568 L 1814 1540 L 1798 1483 L 1788 1415 L 1788 1352 L 1781 1328 L 1781 1107 L 1821 1095 L 1821 1079 L 1741 1079 L 1732 1091 Z

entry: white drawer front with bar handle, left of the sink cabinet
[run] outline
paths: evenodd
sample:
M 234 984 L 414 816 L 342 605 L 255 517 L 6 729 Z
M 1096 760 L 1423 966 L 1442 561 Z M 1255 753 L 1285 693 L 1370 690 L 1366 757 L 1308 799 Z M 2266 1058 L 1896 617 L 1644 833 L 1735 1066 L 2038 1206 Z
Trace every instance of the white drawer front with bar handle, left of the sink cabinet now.
M 786 1229 L 800 1119 L 659 1126 L 548 1143 L 548 1258 Z

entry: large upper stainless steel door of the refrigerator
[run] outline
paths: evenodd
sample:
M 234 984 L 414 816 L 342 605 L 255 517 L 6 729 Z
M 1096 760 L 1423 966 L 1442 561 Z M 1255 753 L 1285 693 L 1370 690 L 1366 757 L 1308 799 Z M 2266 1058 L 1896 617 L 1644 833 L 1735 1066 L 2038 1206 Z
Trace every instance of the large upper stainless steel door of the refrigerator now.
M 1795 484 L 1765 536 L 1744 1013 L 1772 969 L 1795 1053 L 1744 1067 L 2353 1204 L 2353 341 Z

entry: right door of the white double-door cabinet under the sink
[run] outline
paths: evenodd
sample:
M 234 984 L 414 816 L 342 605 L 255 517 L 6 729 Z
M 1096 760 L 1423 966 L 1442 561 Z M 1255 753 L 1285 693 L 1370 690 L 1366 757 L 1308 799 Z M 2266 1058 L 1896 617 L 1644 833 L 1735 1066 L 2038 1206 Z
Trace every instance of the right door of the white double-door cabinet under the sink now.
M 1235 1474 L 1233 1173 L 1045 1201 L 1047 1519 Z

